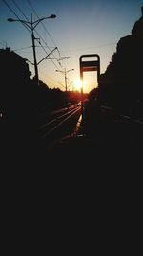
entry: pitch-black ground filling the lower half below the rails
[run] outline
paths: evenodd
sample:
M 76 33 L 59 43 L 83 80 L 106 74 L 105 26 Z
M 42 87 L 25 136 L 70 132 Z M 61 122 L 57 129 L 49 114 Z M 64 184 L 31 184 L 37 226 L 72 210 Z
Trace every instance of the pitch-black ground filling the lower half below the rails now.
M 58 251 L 99 240 L 102 249 L 104 239 L 106 251 L 113 246 L 116 251 L 133 237 L 133 230 L 136 237 L 142 139 L 136 140 L 134 133 L 131 139 L 134 130 L 129 128 L 108 127 L 100 126 L 95 136 L 78 134 L 49 147 L 21 133 L 19 140 L 3 140 L 1 220 L 11 249 L 25 249 L 32 241 L 37 247 L 40 240 Z

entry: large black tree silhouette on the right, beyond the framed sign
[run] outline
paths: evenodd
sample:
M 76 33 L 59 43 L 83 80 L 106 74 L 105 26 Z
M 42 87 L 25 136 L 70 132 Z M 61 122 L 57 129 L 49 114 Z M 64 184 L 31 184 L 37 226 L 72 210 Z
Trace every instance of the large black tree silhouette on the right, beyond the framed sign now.
M 100 75 L 100 97 L 108 105 L 130 113 L 143 101 L 143 16 L 135 22 L 132 35 L 120 38 L 116 52 Z

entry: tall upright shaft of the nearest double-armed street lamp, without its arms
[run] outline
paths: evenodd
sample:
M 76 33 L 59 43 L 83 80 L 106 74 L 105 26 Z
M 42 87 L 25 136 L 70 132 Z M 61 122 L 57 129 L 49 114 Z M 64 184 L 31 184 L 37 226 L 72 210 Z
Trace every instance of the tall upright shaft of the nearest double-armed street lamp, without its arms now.
M 32 40 L 32 50 L 33 50 L 33 61 L 34 61 L 34 71 L 35 71 L 35 82 L 36 85 L 39 85 L 39 76 L 38 76 L 38 65 L 37 65 L 37 60 L 36 60 L 36 53 L 35 53 L 35 44 L 34 44 L 34 34 L 33 34 L 33 25 L 32 25 L 32 13 L 31 13 L 31 40 Z

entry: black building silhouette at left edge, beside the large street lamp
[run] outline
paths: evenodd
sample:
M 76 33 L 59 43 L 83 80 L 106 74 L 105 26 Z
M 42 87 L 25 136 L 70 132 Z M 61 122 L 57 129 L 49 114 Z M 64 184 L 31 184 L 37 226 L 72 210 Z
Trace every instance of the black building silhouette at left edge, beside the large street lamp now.
M 0 108 L 3 115 L 9 116 L 9 113 L 16 114 L 26 105 L 31 72 L 27 59 L 10 48 L 0 49 L 0 71 Z

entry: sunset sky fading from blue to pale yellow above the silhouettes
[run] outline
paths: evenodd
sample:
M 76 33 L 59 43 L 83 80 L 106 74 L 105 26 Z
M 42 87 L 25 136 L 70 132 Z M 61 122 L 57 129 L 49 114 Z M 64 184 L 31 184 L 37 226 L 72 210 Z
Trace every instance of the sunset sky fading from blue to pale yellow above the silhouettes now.
M 35 42 L 37 62 L 53 50 L 51 59 L 38 64 L 39 79 L 51 88 L 65 90 L 63 71 L 66 70 L 72 89 L 73 82 L 80 77 L 80 56 L 98 54 L 104 73 L 116 51 L 116 43 L 120 37 L 131 34 L 140 18 L 142 5 L 142 0 L 0 0 L 0 48 L 10 47 L 33 63 L 30 31 L 20 22 L 10 23 L 7 19 L 31 21 L 32 13 L 36 21 L 55 14 L 56 18 L 40 22 L 34 30 L 35 37 L 40 38 Z M 33 65 L 30 63 L 29 67 L 32 78 Z M 92 74 L 88 76 L 85 92 L 95 86 Z

